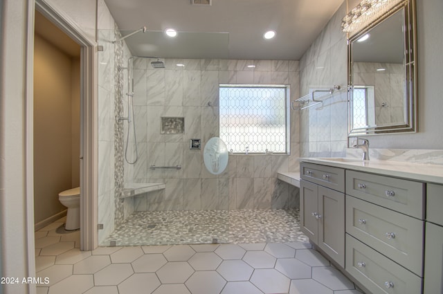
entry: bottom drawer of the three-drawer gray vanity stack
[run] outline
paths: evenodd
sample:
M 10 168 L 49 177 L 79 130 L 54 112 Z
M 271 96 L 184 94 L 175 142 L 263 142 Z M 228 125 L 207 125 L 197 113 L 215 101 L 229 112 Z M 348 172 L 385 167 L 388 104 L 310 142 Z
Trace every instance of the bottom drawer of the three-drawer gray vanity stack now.
M 371 293 L 422 293 L 421 277 L 347 234 L 345 270 Z

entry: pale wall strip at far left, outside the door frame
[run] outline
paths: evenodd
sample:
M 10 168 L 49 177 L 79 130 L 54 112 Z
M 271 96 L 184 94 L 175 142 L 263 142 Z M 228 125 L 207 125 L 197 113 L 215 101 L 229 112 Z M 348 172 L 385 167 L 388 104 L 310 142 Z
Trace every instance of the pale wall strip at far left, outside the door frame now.
M 3 277 L 28 277 L 35 272 L 34 258 L 32 255 L 28 258 L 30 250 L 34 250 L 34 240 L 27 239 L 26 231 L 27 225 L 33 221 L 27 223 L 26 218 L 24 156 L 27 6 L 28 1 L 3 0 L 1 15 L 0 216 Z M 33 35 L 33 32 L 30 33 Z M 28 293 L 26 285 L 1 286 L 6 293 Z

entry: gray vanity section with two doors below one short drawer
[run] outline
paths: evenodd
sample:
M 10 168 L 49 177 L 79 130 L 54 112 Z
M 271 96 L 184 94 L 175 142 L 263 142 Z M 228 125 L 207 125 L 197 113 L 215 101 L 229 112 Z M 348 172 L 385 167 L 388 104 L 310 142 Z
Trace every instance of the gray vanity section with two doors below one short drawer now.
M 344 170 L 300 165 L 300 223 L 302 232 L 342 267 L 345 266 Z M 332 190 L 329 187 L 341 189 Z

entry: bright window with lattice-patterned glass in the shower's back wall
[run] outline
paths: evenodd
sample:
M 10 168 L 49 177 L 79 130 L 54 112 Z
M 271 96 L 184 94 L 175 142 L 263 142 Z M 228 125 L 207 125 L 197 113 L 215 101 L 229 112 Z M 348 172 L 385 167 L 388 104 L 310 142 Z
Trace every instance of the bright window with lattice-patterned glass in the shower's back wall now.
M 289 153 L 289 87 L 220 84 L 220 138 L 234 153 Z

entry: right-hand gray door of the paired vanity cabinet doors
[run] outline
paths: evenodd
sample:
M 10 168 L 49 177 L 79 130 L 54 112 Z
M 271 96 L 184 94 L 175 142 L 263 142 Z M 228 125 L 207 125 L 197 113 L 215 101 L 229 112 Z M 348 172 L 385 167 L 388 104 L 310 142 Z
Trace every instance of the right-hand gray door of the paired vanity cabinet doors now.
M 318 186 L 318 247 L 345 267 L 345 194 Z

